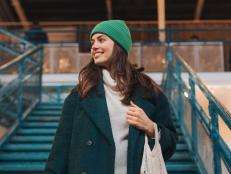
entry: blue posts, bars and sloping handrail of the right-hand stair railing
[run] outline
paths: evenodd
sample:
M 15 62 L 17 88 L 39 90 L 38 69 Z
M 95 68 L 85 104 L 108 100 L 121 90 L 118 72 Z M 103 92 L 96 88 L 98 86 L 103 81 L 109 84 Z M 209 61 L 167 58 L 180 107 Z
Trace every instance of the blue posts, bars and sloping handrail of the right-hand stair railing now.
M 206 85 L 198 77 L 198 75 L 192 70 L 192 68 L 183 60 L 183 58 L 177 53 L 177 51 L 172 47 L 172 44 L 169 44 L 167 47 L 167 62 L 168 62 L 168 71 L 166 79 L 166 89 L 167 94 L 173 104 L 175 103 L 174 109 L 178 115 L 178 119 L 181 122 L 181 127 L 183 133 L 186 136 L 186 142 L 189 145 L 189 148 L 192 152 L 193 158 L 197 161 L 199 170 L 202 173 L 210 173 L 206 169 L 206 165 L 201 159 L 201 154 L 198 151 L 198 124 L 197 119 L 200 120 L 201 124 L 204 125 L 205 131 L 208 133 L 208 136 L 212 141 L 213 149 L 213 172 L 214 174 L 221 173 L 221 159 L 224 162 L 224 166 L 231 172 L 231 150 L 228 147 L 227 143 L 220 136 L 219 132 L 219 123 L 218 117 L 220 117 L 224 124 L 231 129 L 231 113 L 224 107 L 209 91 Z M 185 84 L 182 79 L 182 69 L 188 74 L 189 87 Z M 174 87 L 173 85 L 176 84 Z M 196 99 L 196 89 L 198 87 L 202 93 L 205 95 L 209 102 L 209 117 L 204 112 L 200 104 Z M 173 91 L 174 90 L 174 91 Z M 177 90 L 177 91 L 175 91 Z M 189 99 L 191 104 L 191 127 L 184 123 L 184 100 L 182 97 L 186 93 L 186 98 Z M 188 94 L 187 94 L 188 93 Z M 174 97 L 174 95 L 177 95 Z M 218 116 L 219 115 L 219 116 Z M 190 130 L 188 130 L 190 129 Z M 189 133 L 189 131 L 191 133 Z M 191 134 L 191 135 L 190 135 Z M 212 167 L 212 166 L 211 166 Z M 211 170 L 211 169 L 210 169 Z

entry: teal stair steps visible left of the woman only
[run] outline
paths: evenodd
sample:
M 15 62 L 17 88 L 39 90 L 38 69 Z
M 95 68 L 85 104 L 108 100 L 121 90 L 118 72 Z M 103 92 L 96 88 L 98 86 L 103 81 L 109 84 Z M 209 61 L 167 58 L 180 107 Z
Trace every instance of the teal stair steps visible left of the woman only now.
M 0 173 L 42 173 L 61 114 L 60 104 L 43 103 L 19 125 L 0 152 Z

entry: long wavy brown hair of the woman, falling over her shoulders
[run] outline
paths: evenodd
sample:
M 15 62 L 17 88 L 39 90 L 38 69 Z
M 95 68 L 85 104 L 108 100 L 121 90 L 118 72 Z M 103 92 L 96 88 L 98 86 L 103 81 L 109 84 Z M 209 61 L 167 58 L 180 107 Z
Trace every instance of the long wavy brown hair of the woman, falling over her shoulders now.
M 77 90 L 81 98 L 88 95 L 91 89 L 96 87 L 98 81 L 102 78 L 102 68 L 94 63 L 92 59 L 79 73 L 79 84 Z M 113 53 L 110 58 L 108 70 L 112 78 L 116 81 L 116 88 L 124 98 L 123 104 L 129 105 L 136 86 L 142 87 L 145 91 L 144 97 L 149 97 L 153 90 L 158 94 L 160 88 L 147 75 L 142 73 L 142 68 L 137 68 L 128 61 L 127 53 L 114 44 Z

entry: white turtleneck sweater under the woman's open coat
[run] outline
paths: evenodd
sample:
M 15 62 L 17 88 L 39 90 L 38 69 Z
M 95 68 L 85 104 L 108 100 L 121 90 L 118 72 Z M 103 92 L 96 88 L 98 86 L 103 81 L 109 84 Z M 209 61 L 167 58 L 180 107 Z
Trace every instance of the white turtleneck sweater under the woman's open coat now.
M 127 174 L 127 147 L 128 147 L 128 122 L 126 113 L 128 106 L 122 104 L 121 94 L 113 90 L 116 86 L 110 73 L 103 69 L 104 90 L 107 107 L 115 142 L 115 170 L 114 174 Z

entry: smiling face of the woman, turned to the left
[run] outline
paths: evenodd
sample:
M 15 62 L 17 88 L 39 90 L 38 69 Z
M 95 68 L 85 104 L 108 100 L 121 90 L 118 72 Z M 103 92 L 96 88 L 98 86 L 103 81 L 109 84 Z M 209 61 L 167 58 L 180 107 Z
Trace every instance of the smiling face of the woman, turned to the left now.
M 91 55 L 96 65 L 108 66 L 114 41 L 105 34 L 96 33 L 91 38 Z

